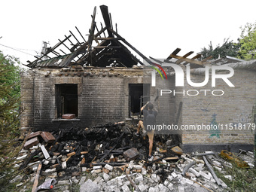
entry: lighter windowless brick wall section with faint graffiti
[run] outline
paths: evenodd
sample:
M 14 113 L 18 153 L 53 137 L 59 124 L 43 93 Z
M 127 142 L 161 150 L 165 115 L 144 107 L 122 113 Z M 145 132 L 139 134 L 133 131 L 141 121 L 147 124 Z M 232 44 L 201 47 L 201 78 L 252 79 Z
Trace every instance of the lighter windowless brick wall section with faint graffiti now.
M 204 75 L 191 75 L 191 81 L 203 82 Z M 254 144 L 254 132 L 251 130 L 235 130 L 235 126 L 244 126 L 251 122 L 251 111 L 256 102 L 256 73 L 254 71 L 235 69 L 229 78 L 235 87 L 229 87 L 218 79 L 216 87 L 211 86 L 211 80 L 204 87 L 184 85 L 184 90 L 223 90 L 223 96 L 212 96 L 211 92 L 200 93 L 198 96 L 180 96 L 183 100 L 182 124 L 210 125 L 221 124 L 219 130 L 183 130 L 183 144 Z M 186 82 L 186 81 L 185 81 Z M 194 94 L 195 92 L 190 92 Z M 220 94 L 221 92 L 215 92 Z M 227 125 L 228 127 L 226 128 Z M 230 130 L 229 126 L 234 127 Z

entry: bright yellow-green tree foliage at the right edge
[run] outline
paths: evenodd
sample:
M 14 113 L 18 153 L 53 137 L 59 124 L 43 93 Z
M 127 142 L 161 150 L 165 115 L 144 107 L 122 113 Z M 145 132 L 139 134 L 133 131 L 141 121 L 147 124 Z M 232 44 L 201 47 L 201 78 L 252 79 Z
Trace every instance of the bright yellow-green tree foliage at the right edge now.
M 240 38 L 238 39 L 240 49 L 238 51 L 239 59 L 256 59 L 256 22 L 246 23 L 242 28 Z

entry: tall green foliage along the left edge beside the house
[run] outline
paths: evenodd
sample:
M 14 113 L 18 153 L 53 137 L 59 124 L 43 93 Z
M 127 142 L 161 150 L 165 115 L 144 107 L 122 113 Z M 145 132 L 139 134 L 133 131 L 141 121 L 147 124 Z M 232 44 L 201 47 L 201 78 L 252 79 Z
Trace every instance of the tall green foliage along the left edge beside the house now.
M 5 186 L 5 191 L 11 186 L 14 159 L 20 151 L 14 147 L 20 116 L 20 74 L 14 62 L 0 52 L 0 186 Z

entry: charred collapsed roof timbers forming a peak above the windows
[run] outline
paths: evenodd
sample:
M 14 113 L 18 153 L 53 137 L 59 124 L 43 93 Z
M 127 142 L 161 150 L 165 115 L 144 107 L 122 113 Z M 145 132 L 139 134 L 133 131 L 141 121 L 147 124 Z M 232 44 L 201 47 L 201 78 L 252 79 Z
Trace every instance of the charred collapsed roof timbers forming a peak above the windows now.
M 82 35 L 79 29 L 75 27 L 78 35 L 69 31 L 70 35 L 65 35 L 63 40 L 59 39 L 58 44 L 47 48 L 45 53 L 41 53 L 41 56 L 35 56 L 36 59 L 33 62 L 28 61 L 29 64 L 27 66 L 30 68 L 62 68 L 75 64 L 130 68 L 133 65 L 137 65 L 138 62 L 143 65 L 124 44 L 139 53 L 142 58 L 145 56 L 117 33 L 117 27 L 115 30 L 113 29 L 108 7 L 101 5 L 100 10 L 105 26 L 101 23 L 101 29 L 99 29 L 96 25 L 95 7 L 88 37 Z

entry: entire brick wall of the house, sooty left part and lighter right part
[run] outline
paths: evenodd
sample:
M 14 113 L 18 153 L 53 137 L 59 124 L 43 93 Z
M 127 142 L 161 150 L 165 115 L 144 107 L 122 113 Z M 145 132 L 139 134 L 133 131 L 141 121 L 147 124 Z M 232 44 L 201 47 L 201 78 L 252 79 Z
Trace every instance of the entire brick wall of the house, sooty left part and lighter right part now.
M 116 122 L 129 117 L 129 84 L 151 84 L 151 76 L 133 69 L 86 69 L 82 72 L 62 72 L 59 69 L 30 70 L 21 78 L 21 129 L 47 130 L 79 126 L 85 128 L 96 123 Z M 203 82 L 204 75 L 191 74 L 191 81 Z M 175 87 L 175 77 L 162 80 L 157 75 L 157 86 L 150 86 L 150 100 L 159 111 L 157 123 L 172 124 L 177 118 L 178 105 L 183 103 L 178 124 L 235 126 L 251 123 L 251 111 L 256 102 L 256 75 L 253 71 L 236 69 L 230 81 L 235 87 L 218 80 L 216 87 Z M 78 119 L 56 120 L 56 84 L 78 84 Z M 160 96 L 161 89 L 179 92 Z M 183 90 L 224 90 L 223 96 L 185 96 Z M 195 92 L 190 92 L 194 94 Z M 217 92 L 216 92 L 217 93 Z M 158 97 L 157 97 L 158 96 Z M 167 132 L 173 134 L 173 132 Z M 218 145 L 238 143 L 252 145 L 251 130 L 180 130 L 184 145 Z

